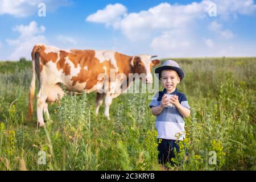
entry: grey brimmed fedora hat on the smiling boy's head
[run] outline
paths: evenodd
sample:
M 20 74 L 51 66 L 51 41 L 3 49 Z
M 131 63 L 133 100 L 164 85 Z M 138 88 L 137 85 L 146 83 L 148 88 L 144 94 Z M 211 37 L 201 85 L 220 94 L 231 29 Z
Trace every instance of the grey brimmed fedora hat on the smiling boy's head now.
M 177 64 L 176 61 L 174 60 L 164 61 L 162 66 L 155 69 L 156 77 L 158 77 L 159 80 L 161 76 L 160 74 L 163 71 L 163 69 L 174 69 L 178 73 L 180 81 L 184 78 L 184 73 L 182 69 L 180 69 L 179 64 Z

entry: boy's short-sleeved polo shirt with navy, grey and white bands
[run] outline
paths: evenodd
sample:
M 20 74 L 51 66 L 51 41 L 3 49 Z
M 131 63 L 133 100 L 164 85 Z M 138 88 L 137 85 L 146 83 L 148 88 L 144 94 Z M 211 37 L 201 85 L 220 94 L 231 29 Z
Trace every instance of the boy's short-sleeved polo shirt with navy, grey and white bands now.
M 152 106 L 159 106 L 163 95 L 166 93 L 166 89 L 162 92 L 155 94 L 154 98 L 150 102 L 150 108 Z M 188 105 L 185 94 L 179 92 L 177 88 L 174 92 L 179 97 L 179 102 L 182 106 L 191 109 Z M 165 107 L 162 112 L 156 116 L 156 130 L 158 131 L 158 138 L 183 140 L 185 138 L 185 122 L 183 116 L 179 113 L 175 106 Z

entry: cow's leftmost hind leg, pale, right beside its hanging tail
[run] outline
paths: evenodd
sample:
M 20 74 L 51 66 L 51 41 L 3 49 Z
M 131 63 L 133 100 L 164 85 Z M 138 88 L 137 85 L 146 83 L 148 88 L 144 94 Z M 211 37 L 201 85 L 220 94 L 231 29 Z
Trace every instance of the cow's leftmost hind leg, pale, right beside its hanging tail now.
M 43 92 L 42 88 L 40 88 L 38 96 L 36 98 L 37 98 L 36 113 L 38 116 L 39 126 L 41 127 L 41 126 L 44 126 L 43 109 L 44 109 L 44 104 L 46 103 L 46 98 L 47 98 L 47 95 Z

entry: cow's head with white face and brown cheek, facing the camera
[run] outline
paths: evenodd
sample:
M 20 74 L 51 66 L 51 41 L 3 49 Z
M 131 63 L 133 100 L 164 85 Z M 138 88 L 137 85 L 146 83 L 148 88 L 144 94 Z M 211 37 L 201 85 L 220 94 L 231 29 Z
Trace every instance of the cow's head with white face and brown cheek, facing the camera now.
M 146 81 L 147 84 L 152 84 L 152 67 L 160 64 L 158 59 L 152 60 L 157 56 L 150 55 L 135 55 L 131 58 L 131 67 L 133 68 L 133 73 L 138 73 L 139 75 L 146 76 L 142 81 Z M 142 78 L 141 76 L 139 78 Z

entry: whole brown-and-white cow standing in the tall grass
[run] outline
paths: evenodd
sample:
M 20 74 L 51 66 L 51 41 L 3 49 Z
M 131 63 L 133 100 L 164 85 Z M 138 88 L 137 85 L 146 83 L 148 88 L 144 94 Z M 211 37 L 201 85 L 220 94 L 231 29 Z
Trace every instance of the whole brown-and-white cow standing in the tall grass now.
M 129 77 L 130 73 L 144 73 L 146 82 L 152 83 L 152 66 L 160 63 L 151 60 L 150 55 L 126 56 L 114 51 L 92 50 L 64 50 L 53 46 L 38 44 L 32 50 L 32 80 L 30 85 L 28 119 L 32 118 L 33 99 L 35 94 L 36 75 L 39 80 L 39 93 L 37 95 L 37 119 L 39 126 L 44 125 L 43 113 L 49 119 L 48 102 L 54 102 L 64 95 L 60 84 L 67 86 L 72 92 L 97 92 L 96 115 L 105 98 L 105 116 L 109 119 L 109 106 L 113 98 L 123 92 L 100 92 L 105 86 L 108 77 L 109 87 L 119 87 L 123 78 L 110 80 L 110 70 Z M 130 83 L 128 83 L 129 85 Z M 106 90 L 106 88 L 104 88 Z

